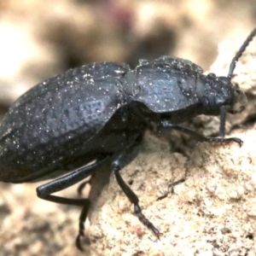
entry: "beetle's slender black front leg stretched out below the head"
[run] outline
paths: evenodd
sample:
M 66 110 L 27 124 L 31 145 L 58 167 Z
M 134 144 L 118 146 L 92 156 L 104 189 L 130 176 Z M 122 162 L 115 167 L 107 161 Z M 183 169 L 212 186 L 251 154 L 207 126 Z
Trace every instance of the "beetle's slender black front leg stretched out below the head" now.
M 190 130 L 189 128 L 180 126 L 180 125 L 172 125 L 172 123 L 170 121 L 162 121 L 161 122 L 161 127 L 162 128 L 169 128 L 169 129 L 175 129 L 177 131 L 182 131 L 184 133 L 189 134 L 192 137 L 195 137 L 199 142 L 207 142 L 207 143 L 238 143 L 239 146 L 241 147 L 242 145 L 242 140 L 238 137 L 228 137 L 228 138 L 224 138 L 224 137 L 207 137 L 202 135 L 199 132 Z

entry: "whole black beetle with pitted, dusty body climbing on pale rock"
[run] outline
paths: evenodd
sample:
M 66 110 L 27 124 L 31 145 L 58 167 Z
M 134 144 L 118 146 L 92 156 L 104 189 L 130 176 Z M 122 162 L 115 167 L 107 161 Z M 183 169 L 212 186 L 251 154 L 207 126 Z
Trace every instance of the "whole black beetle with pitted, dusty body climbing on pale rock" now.
M 183 131 L 201 142 L 242 144 L 236 137 L 223 138 L 225 115 L 246 106 L 246 96 L 230 80 L 255 34 L 256 28 L 231 62 L 227 77 L 204 75 L 191 61 L 162 56 L 141 60 L 135 70 L 117 62 L 86 65 L 38 84 L 9 108 L 0 126 L 0 180 L 37 182 L 70 172 L 37 192 L 47 201 L 83 207 L 76 241 L 82 249 L 79 238 L 84 236 L 90 201 L 51 194 L 111 163 L 137 217 L 159 236 L 119 171 L 137 156 L 144 132 L 153 124 Z M 199 114 L 220 115 L 221 137 L 205 137 L 178 125 Z

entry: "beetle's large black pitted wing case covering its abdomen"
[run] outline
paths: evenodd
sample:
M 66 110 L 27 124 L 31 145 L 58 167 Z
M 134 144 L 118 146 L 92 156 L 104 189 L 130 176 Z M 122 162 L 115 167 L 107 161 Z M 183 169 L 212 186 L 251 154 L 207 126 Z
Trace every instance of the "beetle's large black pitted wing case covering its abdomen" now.
M 114 62 L 78 67 L 21 96 L 0 128 L 6 170 L 1 179 L 15 181 L 32 172 L 41 178 L 40 172 L 65 169 L 68 157 L 96 150 L 94 143 L 84 145 L 125 103 L 118 85 L 127 69 Z

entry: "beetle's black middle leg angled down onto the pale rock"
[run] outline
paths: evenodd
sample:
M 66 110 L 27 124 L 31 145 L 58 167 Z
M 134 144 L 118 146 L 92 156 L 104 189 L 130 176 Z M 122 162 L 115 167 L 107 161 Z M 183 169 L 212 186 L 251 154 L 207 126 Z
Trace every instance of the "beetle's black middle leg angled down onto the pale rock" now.
M 133 144 L 128 148 L 125 148 L 125 150 L 119 154 L 118 158 L 113 161 L 112 163 L 112 170 L 116 177 L 117 182 L 119 183 L 119 187 L 123 190 L 125 195 L 128 197 L 128 199 L 131 201 L 131 203 L 134 205 L 134 212 L 139 218 L 139 220 L 148 227 L 148 229 L 152 230 L 154 232 L 154 235 L 159 237 L 160 232 L 154 227 L 154 224 L 152 224 L 148 218 L 143 215 L 142 209 L 139 206 L 139 199 L 137 195 L 130 189 L 130 187 L 125 183 L 124 179 L 120 175 L 120 170 L 126 166 L 128 163 L 133 160 L 137 154 L 139 149 L 139 143 Z

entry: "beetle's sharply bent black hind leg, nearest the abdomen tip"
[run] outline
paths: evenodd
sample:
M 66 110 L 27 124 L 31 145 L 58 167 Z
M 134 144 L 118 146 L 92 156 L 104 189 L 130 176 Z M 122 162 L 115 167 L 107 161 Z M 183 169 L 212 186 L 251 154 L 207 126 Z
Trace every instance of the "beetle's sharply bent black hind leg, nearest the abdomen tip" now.
M 78 170 L 64 176 L 57 178 L 49 183 L 46 183 L 37 189 L 38 197 L 47 200 L 47 201 L 53 201 L 56 203 L 66 204 L 66 205 L 73 205 L 73 206 L 79 206 L 83 207 L 82 212 L 80 213 L 79 217 L 79 235 L 76 239 L 76 246 L 79 248 L 79 250 L 83 250 L 80 244 L 80 237 L 84 236 L 84 221 L 87 217 L 87 213 L 90 206 L 90 201 L 87 198 L 79 199 L 79 198 L 66 198 L 56 195 L 51 195 L 55 192 L 61 191 L 63 189 L 67 189 L 68 187 L 72 186 L 75 183 L 78 183 L 82 179 L 89 177 L 92 175 L 96 170 L 102 166 L 105 165 L 106 162 L 109 160 L 110 155 L 105 156 L 104 158 L 100 160 L 96 160 L 96 163 L 90 165 L 90 166 L 83 166 L 79 168 Z

